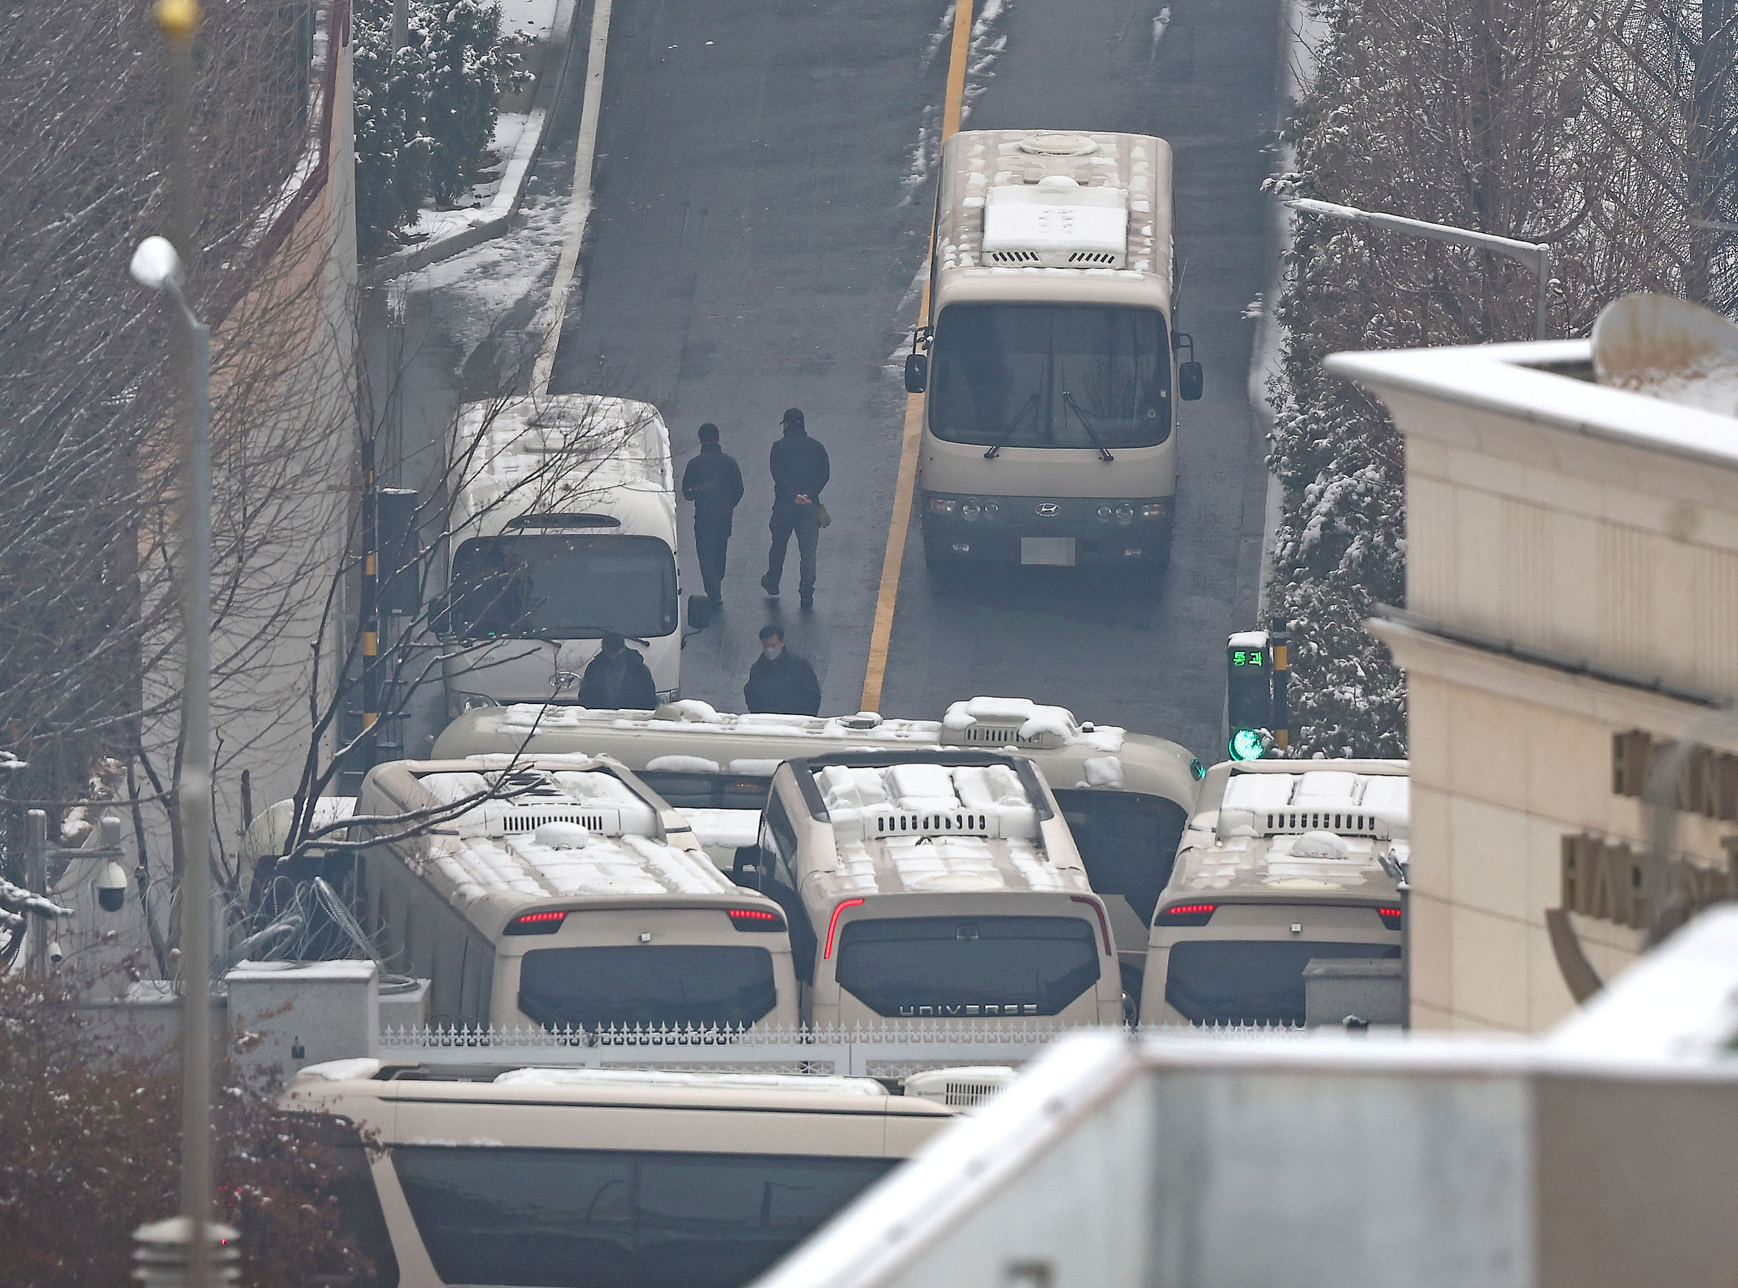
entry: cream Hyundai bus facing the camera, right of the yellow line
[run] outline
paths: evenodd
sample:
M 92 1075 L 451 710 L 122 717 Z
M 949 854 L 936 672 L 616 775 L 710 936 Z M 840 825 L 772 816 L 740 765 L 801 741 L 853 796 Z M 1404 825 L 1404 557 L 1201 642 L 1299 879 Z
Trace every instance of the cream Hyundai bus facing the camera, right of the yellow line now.
M 905 388 L 926 393 L 918 508 L 932 567 L 1170 560 L 1177 398 L 1201 396 L 1192 342 L 1173 329 L 1173 273 L 1164 139 L 947 141 L 930 322 L 905 363 Z

